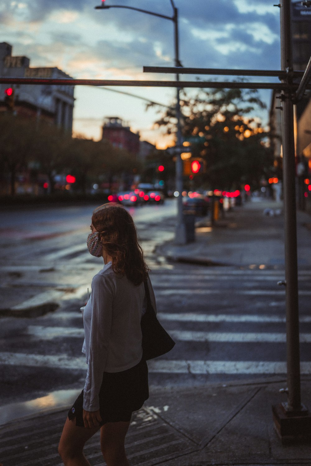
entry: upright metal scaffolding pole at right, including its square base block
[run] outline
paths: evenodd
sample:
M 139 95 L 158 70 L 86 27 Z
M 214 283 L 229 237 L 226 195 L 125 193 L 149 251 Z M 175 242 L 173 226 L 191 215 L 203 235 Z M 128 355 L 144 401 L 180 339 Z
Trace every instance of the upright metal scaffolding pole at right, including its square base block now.
M 283 198 L 285 233 L 286 353 L 288 401 L 272 406 L 276 432 L 287 441 L 310 437 L 311 416 L 301 405 L 298 315 L 297 220 L 295 193 L 294 93 L 292 87 L 292 45 L 290 0 L 281 0 L 281 68 L 283 82 L 291 90 L 282 91 Z

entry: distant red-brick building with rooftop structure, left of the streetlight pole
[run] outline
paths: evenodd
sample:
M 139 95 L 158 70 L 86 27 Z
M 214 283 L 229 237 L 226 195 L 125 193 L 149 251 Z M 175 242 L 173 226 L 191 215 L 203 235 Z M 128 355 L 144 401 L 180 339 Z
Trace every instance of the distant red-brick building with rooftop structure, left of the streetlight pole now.
M 102 140 L 108 140 L 113 147 L 128 151 L 135 158 L 139 154 L 139 133 L 133 133 L 129 126 L 118 117 L 104 119 Z

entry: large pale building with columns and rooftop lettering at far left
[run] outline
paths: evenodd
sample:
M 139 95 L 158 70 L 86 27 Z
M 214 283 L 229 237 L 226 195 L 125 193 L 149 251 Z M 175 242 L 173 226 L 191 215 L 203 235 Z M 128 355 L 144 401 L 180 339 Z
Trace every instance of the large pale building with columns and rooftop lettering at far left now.
M 68 78 L 71 76 L 56 67 L 31 68 L 26 56 L 13 56 L 12 46 L 0 43 L 0 76 L 31 78 Z M 34 117 L 54 123 L 72 132 L 74 86 L 50 86 L 32 84 L 0 84 L 0 111 L 6 110 L 5 91 L 14 89 L 14 111 L 21 116 Z

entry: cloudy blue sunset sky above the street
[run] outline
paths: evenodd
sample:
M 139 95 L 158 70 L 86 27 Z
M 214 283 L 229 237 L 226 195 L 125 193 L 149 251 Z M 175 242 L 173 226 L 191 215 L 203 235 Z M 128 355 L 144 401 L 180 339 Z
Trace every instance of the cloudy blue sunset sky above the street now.
M 279 8 L 272 0 L 174 0 L 179 9 L 180 60 L 187 67 L 279 69 Z M 172 66 L 173 22 L 126 9 L 96 10 L 101 0 L 0 0 L 0 41 L 30 66 L 57 66 L 75 78 L 173 79 L 142 72 Z M 170 0 L 105 0 L 172 15 Z M 200 76 L 204 78 L 204 76 Z M 182 79 L 195 79 L 183 75 Z M 257 80 L 258 78 L 255 78 Z M 263 78 L 264 79 L 264 78 Z M 114 88 L 168 105 L 174 89 Z M 270 91 L 262 92 L 269 102 Z M 118 116 L 158 146 L 156 110 L 105 89 L 76 87 L 74 130 L 100 137 L 104 117 Z M 266 118 L 265 114 L 261 115 Z M 265 123 L 265 122 L 264 122 Z

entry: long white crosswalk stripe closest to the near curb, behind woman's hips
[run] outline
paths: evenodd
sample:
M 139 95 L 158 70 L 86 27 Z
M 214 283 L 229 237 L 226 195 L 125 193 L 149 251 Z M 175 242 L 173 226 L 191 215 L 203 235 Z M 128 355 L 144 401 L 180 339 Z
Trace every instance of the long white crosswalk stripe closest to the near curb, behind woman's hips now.
M 28 367 L 85 370 L 85 357 L 40 356 L 25 353 L 0 353 L 0 364 Z M 275 361 L 187 361 L 152 360 L 149 372 L 168 374 L 286 374 L 286 363 Z M 300 363 L 303 375 L 311 374 L 311 362 Z

